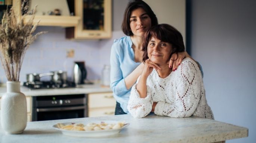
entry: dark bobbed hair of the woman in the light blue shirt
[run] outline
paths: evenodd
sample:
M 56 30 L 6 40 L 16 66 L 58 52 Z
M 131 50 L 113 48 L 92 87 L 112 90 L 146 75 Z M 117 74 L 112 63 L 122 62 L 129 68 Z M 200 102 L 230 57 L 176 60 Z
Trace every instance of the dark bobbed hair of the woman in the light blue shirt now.
M 144 9 L 146 14 L 148 14 L 148 16 L 151 19 L 151 26 L 155 26 L 158 24 L 157 17 L 155 16 L 155 13 L 152 11 L 149 5 L 142 0 L 134 0 L 128 3 L 124 11 L 124 19 L 121 26 L 124 34 L 127 36 L 133 36 L 132 30 L 130 27 L 130 17 L 131 17 L 132 11 L 138 8 Z

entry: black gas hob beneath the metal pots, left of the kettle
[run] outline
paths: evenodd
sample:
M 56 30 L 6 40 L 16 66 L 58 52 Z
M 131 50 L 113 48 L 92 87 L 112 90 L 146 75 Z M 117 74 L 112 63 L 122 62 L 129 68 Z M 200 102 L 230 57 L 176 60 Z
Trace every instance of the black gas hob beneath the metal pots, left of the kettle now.
M 28 81 L 23 84 L 30 89 L 45 89 L 45 88 L 69 88 L 75 87 L 75 83 L 71 81 L 67 82 L 53 82 L 53 81 Z

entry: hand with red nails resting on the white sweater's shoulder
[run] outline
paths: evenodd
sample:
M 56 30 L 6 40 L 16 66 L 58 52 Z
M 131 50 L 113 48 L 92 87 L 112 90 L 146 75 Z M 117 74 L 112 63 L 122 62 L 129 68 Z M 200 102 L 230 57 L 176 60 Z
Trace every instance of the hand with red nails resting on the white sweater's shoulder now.
M 173 53 L 169 61 L 169 68 L 172 68 L 172 71 L 175 71 L 178 68 L 178 66 L 181 64 L 185 56 L 186 56 L 186 51 Z

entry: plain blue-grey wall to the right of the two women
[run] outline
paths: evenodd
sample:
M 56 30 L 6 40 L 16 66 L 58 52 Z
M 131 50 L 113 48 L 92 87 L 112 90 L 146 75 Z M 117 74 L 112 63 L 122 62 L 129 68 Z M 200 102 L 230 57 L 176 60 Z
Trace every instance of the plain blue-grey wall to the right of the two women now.
M 215 120 L 249 128 L 256 142 L 256 1 L 191 0 L 191 52 L 203 66 Z

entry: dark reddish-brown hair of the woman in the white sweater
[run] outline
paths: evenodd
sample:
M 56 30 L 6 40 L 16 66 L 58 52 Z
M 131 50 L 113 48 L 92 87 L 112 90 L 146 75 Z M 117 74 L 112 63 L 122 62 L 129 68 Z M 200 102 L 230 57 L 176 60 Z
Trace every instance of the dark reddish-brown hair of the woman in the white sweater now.
M 144 35 L 144 41 L 142 45 L 142 51 L 144 51 L 142 61 L 144 63 L 146 59 L 148 59 L 148 43 L 152 37 L 157 38 L 162 42 L 172 44 L 172 52 L 169 58 L 171 58 L 173 53 L 185 51 L 182 35 L 175 27 L 168 24 L 152 26 L 146 31 Z

